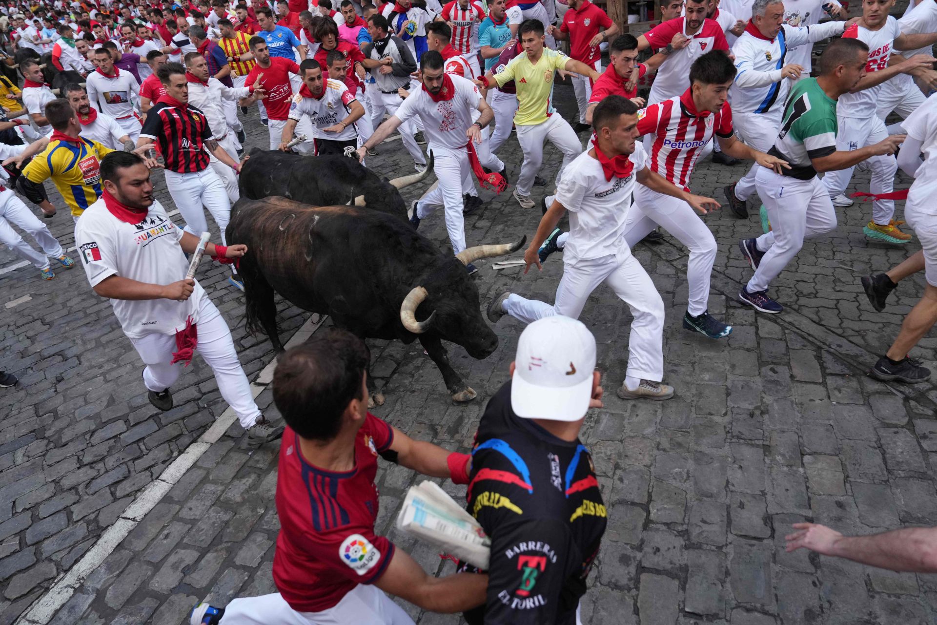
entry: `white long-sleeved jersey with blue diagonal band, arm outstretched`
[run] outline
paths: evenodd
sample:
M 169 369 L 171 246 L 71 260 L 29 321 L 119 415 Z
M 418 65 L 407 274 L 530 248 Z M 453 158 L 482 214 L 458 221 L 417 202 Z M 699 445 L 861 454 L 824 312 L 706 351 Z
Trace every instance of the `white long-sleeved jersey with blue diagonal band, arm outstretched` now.
M 781 25 L 778 36 L 768 39 L 749 22 L 732 46 L 737 69 L 729 94 L 733 110 L 736 113 L 781 115 L 791 89 L 791 80 L 781 78 L 781 67 L 791 63 L 787 59 L 788 51 L 799 47 L 810 51 L 811 46 L 807 44 L 841 33 L 844 23 L 826 22 L 802 27 Z

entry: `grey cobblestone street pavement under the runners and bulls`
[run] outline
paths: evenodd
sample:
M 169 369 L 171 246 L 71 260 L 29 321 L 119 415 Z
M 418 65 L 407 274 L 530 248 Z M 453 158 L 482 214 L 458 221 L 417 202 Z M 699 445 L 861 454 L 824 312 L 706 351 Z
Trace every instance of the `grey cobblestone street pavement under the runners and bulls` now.
M 569 118 L 572 90 L 560 86 L 557 96 Z M 267 130 L 253 112 L 248 127 L 248 145 L 265 143 Z M 516 142 L 509 141 L 500 156 L 516 174 Z M 557 151 L 548 147 L 545 156 L 543 171 L 556 171 Z M 412 171 L 399 141 L 381 146 L 369 160 L 384 175 Z M 721 187 L 743 171 L 741 165 L 714 168 L 706 160 L 692 186 L 721 199 Z M 858 173 L 855 182 L 866 188 L 868 174 Z M 407 189 L 405 199 L 426 186 Z M 171 209 L 165 187 L 159 188 L 159 199 Z M 545 190 L 535 187 L 536 194 Z M 635 248 L 668 308 L 665 379 L 677 388 L 673 400 L 617 399 L 630 315 L 603 287 L 589 299 L 581 319 L 599 342 L 606 406 L 587 417 L 583 438 L 600 475 L 609 526 L 583 602 L 584 622 L 937 622 L 937 577 L 783 550 L 784 533 L 803 519 L 844 532 L 937 524 L 931 471 L 937 462 L 937 391 L 930 383 L 892 387 L 865 375 L 920 296 L 923 276 L 902 284 L 884 313 L 872 310 L 858 282 L 859 275 L 884 270 L 918 246 L 867 241 L 861 228 L 870 217 L 868 204 L 838 210 L 840 230 L 805 245 L 776 281 L 772 292 L 786 309 L 771 318 L 756 317 L 734 301 L 750 275 L 736 241 L 760 231 L 757 217 L 706 216 L 720 248 L 710 310 L 735 327 L 725 341 L 680 327 L 685 250 L 669 236 L 661 245 Z M 506 192 L 468 216 L 468 245 L 529 236 L 539 217 Z M 53 233 L 67 246 L 71 229 L 65 214 L 52 221 Z M 424 219 L 420 231 L 448 246 L 441 213 Z M 16 261 L 0 253 L 0 272 Z M 475 279 L 483 305 L 505 288 L 552 301 L 562 260 L 551 258 L 539 275 L 522 275 L 518 268 L 495 272 L 491 260 L 479 266 Z M 253 379 L 273 354 L 265 337 L 245 335 L 241 296 L 227 285 L 226 271 L 206 263 L 200 281 L 231 323 Z M 199 359 L 173 389 L 177 408 L 152 409 L 136 353 L 80 269 L 60 272 L 51 282 L 38 280 L 31 267 L 0 273 L 4 303 L 0 369 L 19 375 L 21 385 L 0 392 L 3 624 L 15 621 L 72 567 L 225 409 Z M 279 310 L 285 340 L 307 315 L 286 303 Z M 467 451 L 484 402 L 507 379 L 522 327 L 501 320 L 501 345 L 485 361 L 452 348 L 456 368 L 479 394 L 464 405 L 450 401 L 439 371 L 416 344 L 373 342 L 372 373 L 387 396 L 375 412 L 418 439 Z M 929 365 L 937 348 L 933 336 L 914 351 Z M 269 391 L 258 402 L 277 416 Z M 249 454 L 238 444 L 241 434 L 232 425 L 52 622 L 176 625 L 202 599 L 223 605 L 274 591 L 279 445 Z M 427 570 L 449 573 L 451 563 L 393 528 L 406 489 L 417 481 L 391 465 L 379 472 L 378 530 Z M 463 492 L 445 487 L 455 496 Z M 421 623 L 459 620 L 406 608 Z

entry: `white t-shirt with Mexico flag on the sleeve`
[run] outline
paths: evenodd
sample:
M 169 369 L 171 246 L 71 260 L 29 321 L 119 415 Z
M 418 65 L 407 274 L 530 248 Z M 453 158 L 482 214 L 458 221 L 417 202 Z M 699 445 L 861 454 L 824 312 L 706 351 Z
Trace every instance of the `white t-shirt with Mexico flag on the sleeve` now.
M 121 221 L 100 199 L 87 208 L 75 226 L 75 246 L 92 287 L 120 275 L 147 284 L 168 285 L 186 278 L 188 261 L 179 241 L 183 230 L 166 216 L 158 201 L 141 224 Z M 175 300 L 111 300 L 114 315 L 130 338 L 172 335 L 186 329 L 186 319 L 199 320 L 205 297 L 198 281 L 185 302 Z

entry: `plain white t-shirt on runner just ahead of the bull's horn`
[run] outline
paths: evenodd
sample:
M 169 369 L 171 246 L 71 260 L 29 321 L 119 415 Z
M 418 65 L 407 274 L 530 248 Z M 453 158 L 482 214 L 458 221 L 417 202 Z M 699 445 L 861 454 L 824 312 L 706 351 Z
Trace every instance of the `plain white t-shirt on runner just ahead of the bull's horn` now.
M 563 170 L 557 201 L 570 212 L 570 238 L 563 247 L 563 262 L 599 259 L 628 252 L 625 223 L 632 207 L 636 174 L 647 167 L 647 152 L 640 141 L 628 159 L 632 173 L 605 180 L 602 164 L 588 150 Z

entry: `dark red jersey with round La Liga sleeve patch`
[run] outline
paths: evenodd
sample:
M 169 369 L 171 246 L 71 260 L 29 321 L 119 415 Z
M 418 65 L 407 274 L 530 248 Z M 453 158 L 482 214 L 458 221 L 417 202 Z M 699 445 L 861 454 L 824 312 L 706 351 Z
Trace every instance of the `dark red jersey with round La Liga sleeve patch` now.
M 394 557 L 394 543 L 374 533 L 378 454 L 394 430 L 368 413 L 354 442 L 355 468 L 341 473 L 309 464 L 287 427 L 276 477 L 274 583 L 297 612 L 335 606 L 358 584 L 373 584 Z

